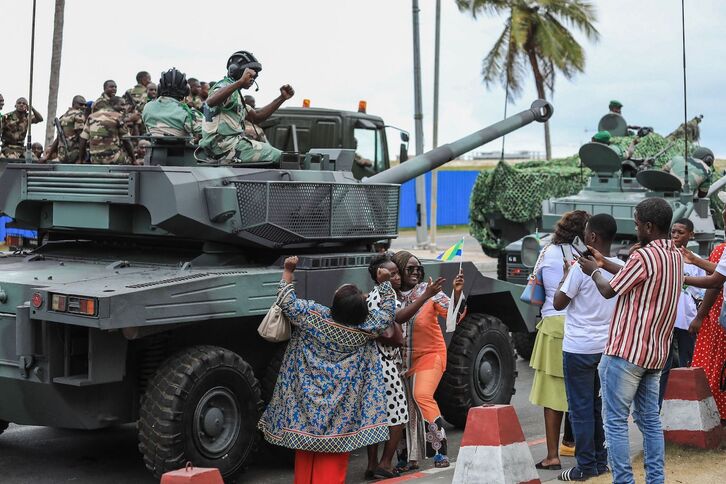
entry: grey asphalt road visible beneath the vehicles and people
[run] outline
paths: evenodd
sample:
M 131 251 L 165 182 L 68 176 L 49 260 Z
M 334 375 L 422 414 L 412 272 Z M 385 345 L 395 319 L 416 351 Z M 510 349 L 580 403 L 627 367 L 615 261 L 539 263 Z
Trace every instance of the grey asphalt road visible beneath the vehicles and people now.
M 542 410 L 527 401 L 532 385 L 532 370 L 527 362 L 518 360 L 517 392 L 512 399 L 525 438 L 530 443 L 532 454 L 539 460 L 545 449 L 541 444 L 544 434 Z M 462 432 L 447 429 L 450 454 L 458 453 Z M 638 448 L 640 441 L 633 439 Z M 563 459 L 564 465 L 571 465 L 572 459 Z M 349 483 L 364 482 L 365 451 L 357 451 L 351 459 L 348 472 Z M 424 466 L 424 468 L 426 468 Z M 80 431 L 60 430 L 45 427 L 22 427 L 11 425 L 0 436 L 0 469 L 3 484 L 55 484 L 73 482 L 77 484 L 143 484 L 156 482 L 144 470 L 136 450 L 136 429 L 133 425 L 117 428 Z M 554 471 L 540 473 L 542 480 L 556 477 Z M 422 482 L 450 482 L 453 470 L 432 475 Z M 261 484 L 282 484 L 292 481 L 292 469 L 279 462 L 257 462 L 242 474 L 238 482 Z

